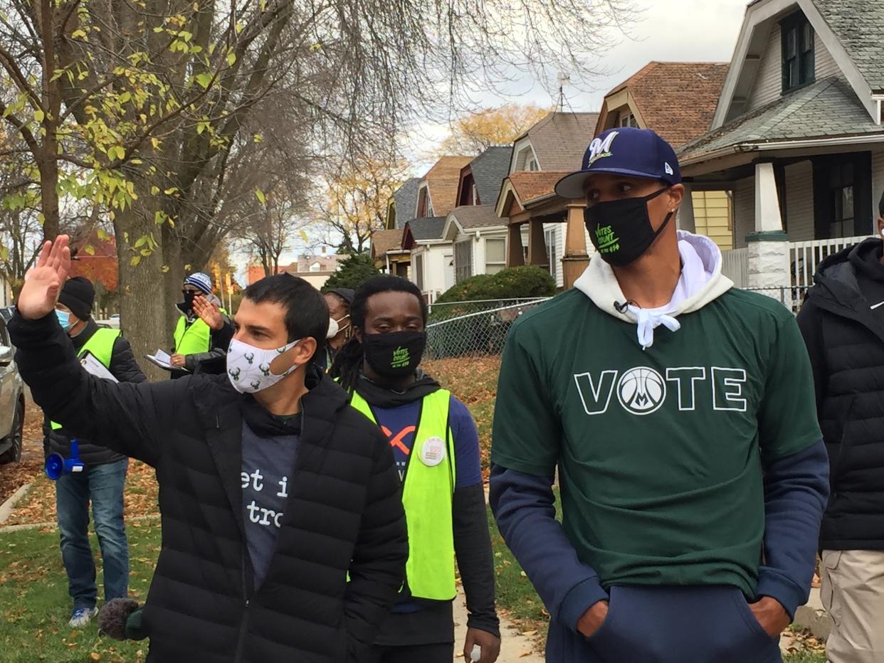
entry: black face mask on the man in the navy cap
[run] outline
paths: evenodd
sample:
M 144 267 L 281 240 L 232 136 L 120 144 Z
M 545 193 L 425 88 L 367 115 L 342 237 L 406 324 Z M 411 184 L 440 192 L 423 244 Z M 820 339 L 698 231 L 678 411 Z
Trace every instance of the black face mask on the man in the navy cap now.
M 654 231 L 648 214 L 648 202 L 668 190 L 669 187 L 662 188 L 643 198 L 597 202 L 583 210 L 586 230 L 602 260 L 614 267 L 623 267 L 635 262 L 651 248 L 674 212 L 669 212 L 663 225 Z

